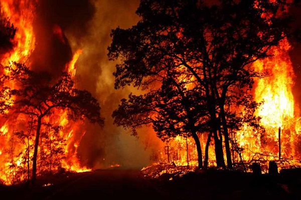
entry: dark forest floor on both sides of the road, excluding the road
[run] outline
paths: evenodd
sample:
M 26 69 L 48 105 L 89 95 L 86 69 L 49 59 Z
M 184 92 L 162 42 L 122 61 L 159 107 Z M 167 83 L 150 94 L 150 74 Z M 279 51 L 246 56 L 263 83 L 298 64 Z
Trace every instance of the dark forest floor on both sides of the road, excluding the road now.
M 65 172 L 38 178 L 35 186 L 0 185 L 0 196 L 40 192 L 44 196 L 93 171 Z M 146 179 L 162 191 L 173 191 L 185 199 L 301 199 L 301 168 L 282 170 L 277 174 L 254 174 L 235 170 L 187 170 L 184 166 L 158 164 L 141 169 Z M 26 196 L 23 196 L 26 199 Z M 18 198 L 19 199 L 19 198 Z M 183 199 L 183 198 L 178 198 Z

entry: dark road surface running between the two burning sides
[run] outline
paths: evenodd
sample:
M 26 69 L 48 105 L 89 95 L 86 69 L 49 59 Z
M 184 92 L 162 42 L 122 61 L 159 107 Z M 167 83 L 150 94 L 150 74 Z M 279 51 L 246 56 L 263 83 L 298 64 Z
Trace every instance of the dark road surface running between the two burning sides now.
M 8 196 L 9 197 L 9 196 Z M 143 177 L 137 169 L 99 169 L 78 175 L 71 181 L 25 191 L 10 199 L 170 199 L 152 180 Z M 177 198 L 176 198 L 177 199 Z

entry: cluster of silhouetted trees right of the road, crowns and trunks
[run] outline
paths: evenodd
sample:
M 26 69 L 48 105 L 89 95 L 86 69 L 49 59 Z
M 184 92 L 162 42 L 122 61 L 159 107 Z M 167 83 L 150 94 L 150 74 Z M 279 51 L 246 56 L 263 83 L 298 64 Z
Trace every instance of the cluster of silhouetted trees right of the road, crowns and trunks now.
M 255 77 L 267 75 L 253 63 L 273 56 L 269 49 L 289 34 L 287 5 L 278 0 L 222 0 L 214 5 L 141 0 L 136 11 L 140 21 L 112 30 L 108 47 L 111 60 L 121 58 L 115 88 L 132 84 L 146 92 L 122 100 L 113 113 L 117 125 L 149 123 L 159 135 L 192 135 L 198 148 L 197 133 L 207 132 L 207 144 L 214 139 L 217 166 L 225 167 L 225 153 L 231 168 L 229 131 L 245 124 L 259 127 L 260 117 L 254 115 L 258 102 L 245 94 L 251 93 Z M 198 153 L 202 167 L 201 148 Z

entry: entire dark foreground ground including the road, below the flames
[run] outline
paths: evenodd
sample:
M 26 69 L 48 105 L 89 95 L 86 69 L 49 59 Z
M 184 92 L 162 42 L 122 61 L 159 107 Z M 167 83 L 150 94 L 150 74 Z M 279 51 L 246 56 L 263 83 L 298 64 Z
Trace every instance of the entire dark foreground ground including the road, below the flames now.
M 251 174 L 207 170 L 149 179 L 138 169 L 100 169 L 0 186 L 0 199 L 301 199 L 301 172 Z

